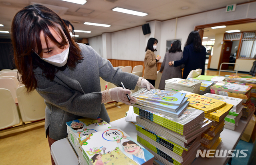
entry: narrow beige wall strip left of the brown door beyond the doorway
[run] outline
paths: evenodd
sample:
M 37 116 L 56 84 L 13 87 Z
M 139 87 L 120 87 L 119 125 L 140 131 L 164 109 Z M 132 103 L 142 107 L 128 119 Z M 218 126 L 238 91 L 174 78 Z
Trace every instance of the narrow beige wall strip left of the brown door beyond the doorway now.
M 215 34 L 214 51 L 212 53 L 210 69 L 218 69 L 223 37 L 224 34 Z

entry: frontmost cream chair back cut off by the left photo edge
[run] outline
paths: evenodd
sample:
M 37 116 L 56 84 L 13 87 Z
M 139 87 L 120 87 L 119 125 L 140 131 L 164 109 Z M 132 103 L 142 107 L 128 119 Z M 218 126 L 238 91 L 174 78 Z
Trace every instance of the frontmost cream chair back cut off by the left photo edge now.
M 20 123 L 17 106 L 8 89 L 0 89 L 0 111 L 0 129 L 12 127 Z

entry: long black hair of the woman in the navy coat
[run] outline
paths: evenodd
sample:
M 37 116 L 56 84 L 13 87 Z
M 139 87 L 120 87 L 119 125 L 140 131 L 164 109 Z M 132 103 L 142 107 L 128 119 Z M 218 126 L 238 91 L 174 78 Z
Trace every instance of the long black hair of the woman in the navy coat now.
M 194 45 L 194 51 L 195 52 L 201 52 L 202 50 L 202 41 L 201 41 L 201 37 L 198 33 L 198 31 L 194 30 L 192 31 L 187 38 L 187 42 L 185 43 L 185 46 L 188 46 L 189 44 Z

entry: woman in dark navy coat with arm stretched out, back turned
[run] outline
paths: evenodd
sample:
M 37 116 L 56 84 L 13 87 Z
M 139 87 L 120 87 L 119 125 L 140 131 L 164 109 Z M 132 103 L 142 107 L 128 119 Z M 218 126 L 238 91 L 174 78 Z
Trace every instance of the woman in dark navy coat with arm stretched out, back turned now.
M 206 48 L 202 46 L 202 40 L 198 31 L 192 31 L 183 50 L 183 58 L 179 61 L 171 61 L 169 65 L 175 67 L 185 64 L 183 70 L 183 79 L 186 79 L 191 70 L 202 69 L 204 75 L 204 66 L 206 64 Z

